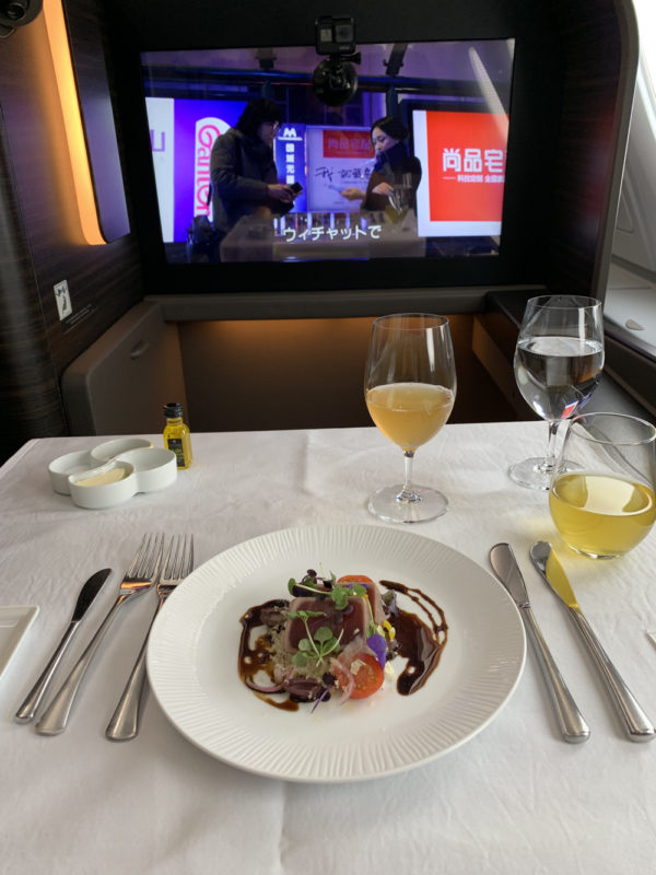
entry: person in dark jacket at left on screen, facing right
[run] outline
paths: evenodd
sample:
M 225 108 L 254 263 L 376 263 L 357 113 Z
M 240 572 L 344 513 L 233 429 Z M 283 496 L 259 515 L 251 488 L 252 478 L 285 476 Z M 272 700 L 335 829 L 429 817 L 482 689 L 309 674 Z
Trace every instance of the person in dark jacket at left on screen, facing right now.
M 224 236 L 243 217 L 289 212 L 294 192 L 278 182 L 273 143 L 282 116 L 278 104 L 250 101 L 234 128 L 214 140 L 210 160 L 214 228 Z

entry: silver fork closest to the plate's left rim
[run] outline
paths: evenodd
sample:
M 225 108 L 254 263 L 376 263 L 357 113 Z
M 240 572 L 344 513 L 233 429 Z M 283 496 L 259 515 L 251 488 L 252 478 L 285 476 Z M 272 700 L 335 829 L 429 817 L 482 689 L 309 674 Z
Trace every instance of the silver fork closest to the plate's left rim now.
M 157 595 L 160 603 L 151 620 L 151 625 L 145 633 L 145 639 L 139 651 L 139 656 L 134 667 L 128 678 L 122 696 L 116 705 L 114 716 L 109 721 L 105 735 L 112 742 L 128 742 L 139 733 L 139 719 L 141 714 L 141 702 L 143 701 L 143 690 L 145 687 L 145 651 L 150 630 L 152 629 L 155 617 L 162 609 L 162 605 L 175 587 L 188 574 L 194 571 L 194 535 L 178 535 L 177 539 L 171 539 L 171 546 L 166 553 L 166 559 L 162 567 L 162 575 L 157 581 Z

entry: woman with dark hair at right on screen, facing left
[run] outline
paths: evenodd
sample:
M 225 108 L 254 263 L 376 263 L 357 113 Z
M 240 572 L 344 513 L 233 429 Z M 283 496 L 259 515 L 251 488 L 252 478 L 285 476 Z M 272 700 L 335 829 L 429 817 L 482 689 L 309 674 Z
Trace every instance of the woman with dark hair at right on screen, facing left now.
M 414 194 L 421 182 L 421 162 L 410 155 L 406 140 L 408 128 L 395 116 L 385 116 L 372 125 L 372 143 L 376 163 L 366 191 L 345 188 L 341 194 L 348 200 L 362 200 L 363 210 L 385 210 L 394 198 L 395 186 L 407 192 L 405 206 L 414 209 Z

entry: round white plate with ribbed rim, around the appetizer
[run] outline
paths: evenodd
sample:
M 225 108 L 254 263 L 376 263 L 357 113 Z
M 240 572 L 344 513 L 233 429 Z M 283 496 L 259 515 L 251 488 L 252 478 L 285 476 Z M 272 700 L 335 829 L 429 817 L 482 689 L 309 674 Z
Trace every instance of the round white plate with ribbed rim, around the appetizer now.
M 390 678 L 368 699 L 284 711 L 244 686 L 239 618 L 286 598 L 289 579 L 309 568 L 405 583 L 442 607 L 448 641 L 422 689 L 400 696 Z M 399 605 L 417 610 L 403 596 Z M 239 544 L 190 574 L 153 626 L 148 670 L 168 719 L 208 754 L 270 778 L 336 782 L 401 772 L 472 738 L 513 693 L 525 654 L 514 603 L 456 550 L 387 526 L 305 526 Z

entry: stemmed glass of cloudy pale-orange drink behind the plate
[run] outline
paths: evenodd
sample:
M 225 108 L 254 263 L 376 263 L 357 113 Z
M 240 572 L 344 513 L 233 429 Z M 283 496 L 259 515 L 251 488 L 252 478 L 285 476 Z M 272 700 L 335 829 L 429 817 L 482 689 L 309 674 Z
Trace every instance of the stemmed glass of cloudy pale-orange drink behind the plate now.
M 448 419 L 456 399 L 456 366 L 448 319 L 400 313 L 374 322 L 364 397 L 383 434 L 403 451 L 405 478 L 375 492 L 370 511 L 388 523 L 419 523 L 441 516 L 447 498 L 412 483 L 419 446 Z

